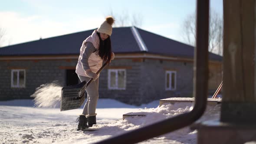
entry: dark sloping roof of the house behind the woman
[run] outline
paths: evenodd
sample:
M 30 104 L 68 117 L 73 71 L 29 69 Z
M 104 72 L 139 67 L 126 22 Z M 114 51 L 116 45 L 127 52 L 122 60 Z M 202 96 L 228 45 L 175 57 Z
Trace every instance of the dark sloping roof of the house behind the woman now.
M 2 47 L 0 56 L 77 55 L 83 40 L 90 36 L 93 30 Z M 147 52 L 184 58 L 194 56 L 193 46 L 136 27 L 113 28 L 111 40 L 112 50 L 115 53 Z M 141 44 L 145 49 L 141 47 Z M 222 60 L 222 56 L 213 53 L 209 53 L 209 58 Z

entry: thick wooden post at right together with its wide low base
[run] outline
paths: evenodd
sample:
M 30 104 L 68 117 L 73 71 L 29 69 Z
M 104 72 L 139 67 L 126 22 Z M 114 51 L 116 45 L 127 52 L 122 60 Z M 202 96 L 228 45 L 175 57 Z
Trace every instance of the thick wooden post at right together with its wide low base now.
M 223 0 L 223 98 L 220 120 L 197 126 L 197 144 L 256 141 L 256 0 Z

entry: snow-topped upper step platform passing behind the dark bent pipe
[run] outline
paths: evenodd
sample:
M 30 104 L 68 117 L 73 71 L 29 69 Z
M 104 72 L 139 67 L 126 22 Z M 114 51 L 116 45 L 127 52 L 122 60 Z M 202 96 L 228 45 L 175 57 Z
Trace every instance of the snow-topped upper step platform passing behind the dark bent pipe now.
M 159 101 L 159 107 L 164 103 L 193 102 L 195 98 L 165 98 Z M 222 98 L 207 98 L 207 105 L 217 105 L 221 103 Z

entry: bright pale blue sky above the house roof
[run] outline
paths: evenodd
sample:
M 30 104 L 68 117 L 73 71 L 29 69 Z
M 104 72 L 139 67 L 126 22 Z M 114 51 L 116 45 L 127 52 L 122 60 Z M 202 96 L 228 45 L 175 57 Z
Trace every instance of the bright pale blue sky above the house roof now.
M 223 0 L 210 7 L 223 15 Z M 139 28 L 184 42 L 182 23 L 196 0 L 0 0 L 0 46 L 97 28 L 110 11 L 142 17 Z M 86 38 L 86 36 L 85 36 Z

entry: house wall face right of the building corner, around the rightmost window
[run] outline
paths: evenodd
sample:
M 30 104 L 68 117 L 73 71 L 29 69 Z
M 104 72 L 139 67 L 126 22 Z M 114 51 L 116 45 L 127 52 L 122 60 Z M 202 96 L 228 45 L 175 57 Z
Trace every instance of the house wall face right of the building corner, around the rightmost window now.
M 166 90 L 166 71 L 176 72 L 176 90 Z M 193 91 L 193 62 L 176 62 L 159 59 L 145 59 L 142 65 L 144 75 L 142 95 L 145 102 L 170 97 L 187 97 Z M 191 77 L 191 78 L 190 78 Z M 191 97 L 191 95 L 189 95 Z

